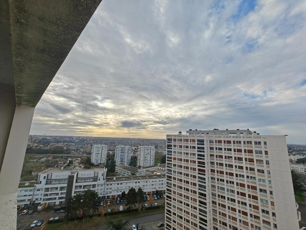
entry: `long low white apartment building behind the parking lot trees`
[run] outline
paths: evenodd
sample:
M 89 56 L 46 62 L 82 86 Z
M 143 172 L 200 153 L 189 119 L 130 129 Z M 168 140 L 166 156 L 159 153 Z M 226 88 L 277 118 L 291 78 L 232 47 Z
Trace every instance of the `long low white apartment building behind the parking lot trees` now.
M 38 174 L 36 182 L 20 182 L 17 205 L 30 202 L 65 205 L 67 199 L 87 189 L 95 190 L 100 199 L 119 197 L 129 188 L 143 188 L 146 194 L 165 190 L 165 174 L 106 177 L 106 168 L 53 170 Z

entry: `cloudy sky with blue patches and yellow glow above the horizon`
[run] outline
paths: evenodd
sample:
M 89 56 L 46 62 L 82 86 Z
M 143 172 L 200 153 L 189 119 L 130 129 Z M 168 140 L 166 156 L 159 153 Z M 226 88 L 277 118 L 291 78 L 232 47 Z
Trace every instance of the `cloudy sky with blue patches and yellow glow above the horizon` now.
M 103 0 L 31 134 L 249 128 L 306 144 L 306 2 Z

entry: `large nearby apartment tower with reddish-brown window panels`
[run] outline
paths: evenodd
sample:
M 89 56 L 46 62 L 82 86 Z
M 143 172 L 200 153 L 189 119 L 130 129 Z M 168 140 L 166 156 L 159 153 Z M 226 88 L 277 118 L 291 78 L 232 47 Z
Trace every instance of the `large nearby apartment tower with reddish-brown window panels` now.
M 285 136 L 166 135 L 167 230 L 299 229 Z

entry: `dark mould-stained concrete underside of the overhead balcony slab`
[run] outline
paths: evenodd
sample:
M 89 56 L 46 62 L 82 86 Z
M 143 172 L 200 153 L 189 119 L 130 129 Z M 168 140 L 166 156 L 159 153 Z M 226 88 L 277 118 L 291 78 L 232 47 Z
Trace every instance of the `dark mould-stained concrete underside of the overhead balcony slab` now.
M 39 102 L 100 2 L 9 1 L 17 106 Z

